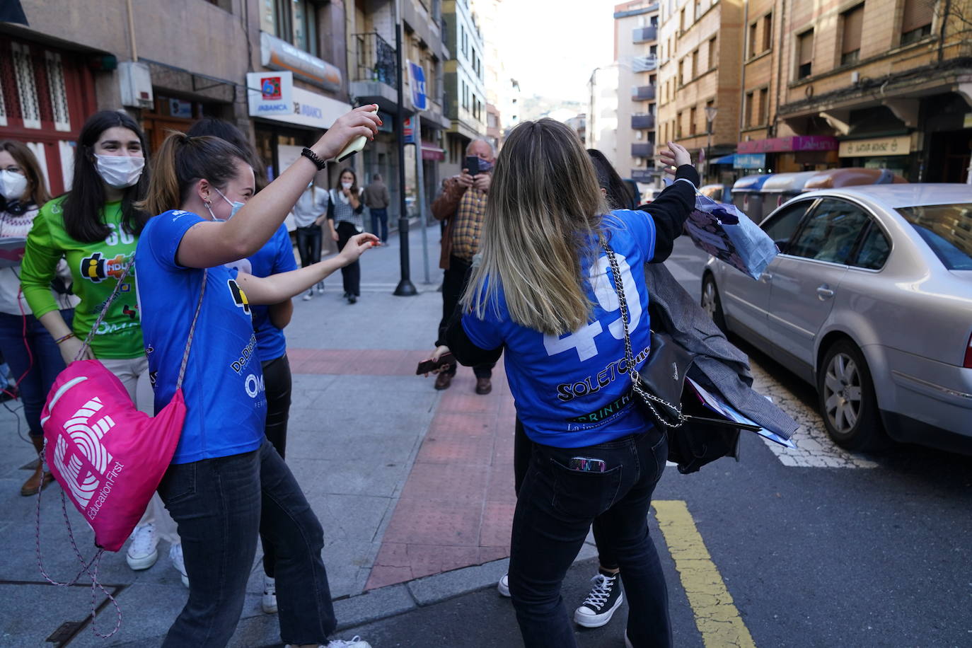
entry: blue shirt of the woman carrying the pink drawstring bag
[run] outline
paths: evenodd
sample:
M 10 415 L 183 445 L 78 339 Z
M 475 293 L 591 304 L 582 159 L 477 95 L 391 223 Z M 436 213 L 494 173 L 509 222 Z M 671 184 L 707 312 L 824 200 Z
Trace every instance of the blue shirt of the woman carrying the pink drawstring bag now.
M 168 211 L 150 219 L 138 240 L 139 312 L 156 392 L 156 412 L 172 399 L 203 270 L 176 263 L 196 214 Z M 228 457 L 256 450 L 263 439 L 266 397 L 257 338 L 236 271 L 206 272 L 206 292 L 186 367 L 186 423 L 173 463 Z

